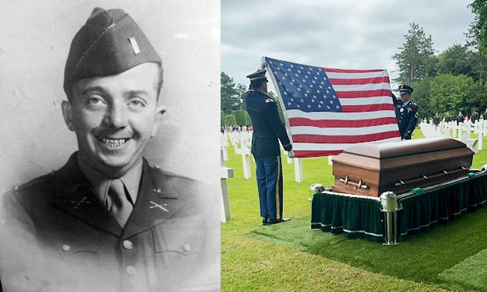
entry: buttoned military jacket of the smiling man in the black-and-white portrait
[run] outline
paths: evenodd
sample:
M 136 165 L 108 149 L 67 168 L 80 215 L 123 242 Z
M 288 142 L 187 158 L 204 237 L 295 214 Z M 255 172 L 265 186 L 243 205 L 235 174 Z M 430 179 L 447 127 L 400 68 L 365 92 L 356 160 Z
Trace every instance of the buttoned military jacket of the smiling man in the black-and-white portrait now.
M 212 220 L 196 199 L 208 197 L 200 184 L 144 159 L 139 195 L 122 229 L 73 154 L 58 171 L 4 195 L 4 291 L 219 289 L 219 233 L 208 231 Z

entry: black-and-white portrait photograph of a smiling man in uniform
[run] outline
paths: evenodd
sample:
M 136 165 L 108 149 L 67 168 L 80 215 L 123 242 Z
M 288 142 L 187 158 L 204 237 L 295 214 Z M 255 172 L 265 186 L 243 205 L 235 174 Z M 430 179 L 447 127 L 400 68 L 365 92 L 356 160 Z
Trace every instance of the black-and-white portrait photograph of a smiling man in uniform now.
M 220 1 L 0 1 L 3 291 L 220 289 Z

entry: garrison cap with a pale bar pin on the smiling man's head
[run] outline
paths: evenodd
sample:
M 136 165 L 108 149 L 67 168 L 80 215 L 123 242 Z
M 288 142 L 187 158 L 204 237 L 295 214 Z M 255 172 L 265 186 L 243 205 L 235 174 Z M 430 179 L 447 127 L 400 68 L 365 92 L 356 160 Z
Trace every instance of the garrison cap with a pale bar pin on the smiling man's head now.
M 162 64 L 149 39 L 121 9 L 96 7 L 71 42 L 64 68 L 64 92 L 84 78 L 125 72 L 143 63 Z

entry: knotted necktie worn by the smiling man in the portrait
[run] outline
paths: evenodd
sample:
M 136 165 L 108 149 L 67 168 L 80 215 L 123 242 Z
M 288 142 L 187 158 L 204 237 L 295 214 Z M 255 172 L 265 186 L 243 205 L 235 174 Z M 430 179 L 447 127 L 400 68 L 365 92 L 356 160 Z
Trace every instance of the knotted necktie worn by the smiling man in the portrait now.
M 127 223 L 127 219 L 129 219 L 133 206 L 127 199 L 125 187 L 121 180 L 112 180 L 110 188 L 108 189 L 108 196 L 109 200 L 112 201 L 112 203 L 109 203 L 108 205 L 109 210 L 123 228 L 125 223 Z

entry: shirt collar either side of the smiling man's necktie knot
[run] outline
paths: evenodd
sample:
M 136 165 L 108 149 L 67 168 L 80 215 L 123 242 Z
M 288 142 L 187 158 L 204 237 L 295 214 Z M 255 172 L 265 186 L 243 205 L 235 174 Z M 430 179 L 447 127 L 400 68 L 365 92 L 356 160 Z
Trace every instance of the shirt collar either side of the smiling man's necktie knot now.
M 81 169 L 81 172 L 83 172 L 85 177 L 92 184 L 94 190 L 96 191 L 98 199 L 100 199 L 100 201 L 105 204 L 107 201 L 108 188 L 110 187 L 112 178 L 106 176 L 105 174 L 99 172 L 98 170 L 85 163 L 80 158 L 80 155 L 78 155 L 78 165 Z M 134 204 L 137 200 L 137 195 L 139 193 L 141 177 L 142 159 L 136 165 L 134 165 L 124 176 L 118 178 L 125 185 L 127 191 L 129 191 L 129 196 Z

